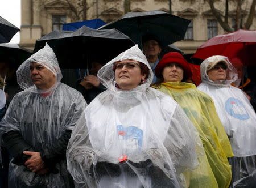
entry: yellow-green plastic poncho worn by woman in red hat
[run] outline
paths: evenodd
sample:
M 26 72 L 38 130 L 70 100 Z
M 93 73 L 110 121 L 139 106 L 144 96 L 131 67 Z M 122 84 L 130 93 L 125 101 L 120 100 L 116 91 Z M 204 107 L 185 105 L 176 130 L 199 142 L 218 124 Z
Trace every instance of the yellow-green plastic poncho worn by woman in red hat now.
M 227 157 L 233 152 L 213 100 L 190 83 L 165 82 L 153 87 L 172 96 L 199 131 L 206 155 L 201 156 L 199 168 L 189 174 L 188 186 L 228 187 L 232 174 Z

